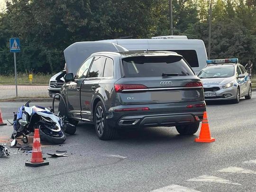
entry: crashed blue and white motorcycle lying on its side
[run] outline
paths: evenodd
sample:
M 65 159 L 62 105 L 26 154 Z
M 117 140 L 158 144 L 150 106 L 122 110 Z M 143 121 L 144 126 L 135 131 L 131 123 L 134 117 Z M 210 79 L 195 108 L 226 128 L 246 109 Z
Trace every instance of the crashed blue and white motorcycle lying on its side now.
M 30 102 L 31 100 L 14 113 L 12 139 L 22 135 L 22 141 L 27 143 L 27 135 L 37 128 L 42 141 L 61 144 L 66 140 L 65 133 L 75 133 L 76 127 L 66 121 L 65 117 L 59 117 L 52 113 L 52 108 L 29 107 Z

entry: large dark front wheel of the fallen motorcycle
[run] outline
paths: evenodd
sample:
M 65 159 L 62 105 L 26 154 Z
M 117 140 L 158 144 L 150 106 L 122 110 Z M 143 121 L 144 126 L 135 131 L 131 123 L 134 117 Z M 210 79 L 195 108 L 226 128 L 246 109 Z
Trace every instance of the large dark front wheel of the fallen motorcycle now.
M 62 144 L 66 140 L 66 135 L 64 131 L 53 132 L 48 129 L 44 124 L 38 124 L 37 128 L 39 129 L 40 139 L 52 144 Z

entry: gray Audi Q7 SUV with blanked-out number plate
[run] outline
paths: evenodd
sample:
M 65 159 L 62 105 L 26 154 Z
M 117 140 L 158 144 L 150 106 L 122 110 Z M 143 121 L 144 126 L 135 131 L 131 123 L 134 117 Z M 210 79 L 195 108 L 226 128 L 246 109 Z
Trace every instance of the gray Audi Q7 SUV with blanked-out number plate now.
M 97 52 L 64 80 L 60 114 L 94 124 L 101 140 L 153 126 L 195 134 L 206 110 L 201 80 L 175 52 Z

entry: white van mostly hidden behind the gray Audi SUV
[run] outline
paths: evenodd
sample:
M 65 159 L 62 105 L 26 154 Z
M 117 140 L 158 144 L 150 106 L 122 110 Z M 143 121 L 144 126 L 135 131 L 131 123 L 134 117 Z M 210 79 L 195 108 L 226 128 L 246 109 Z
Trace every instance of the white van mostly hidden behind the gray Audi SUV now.
M 182 55 L 196 74 L 206 66 L 207 53 L 202 40 L 188 39 L 187 36 L 159 36 L 152 39 L 111 39 L 128 50 L 167 50 Z

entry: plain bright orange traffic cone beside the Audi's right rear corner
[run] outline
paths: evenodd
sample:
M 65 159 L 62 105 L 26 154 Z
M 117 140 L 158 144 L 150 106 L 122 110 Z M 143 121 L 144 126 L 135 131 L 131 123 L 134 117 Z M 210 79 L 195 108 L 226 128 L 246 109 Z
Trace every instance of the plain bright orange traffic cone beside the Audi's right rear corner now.
M 195 142 L 214 142 L 214 141 L 215 141 L 215 138 L 210 137 L 210 127 L 208 124 L 207 113 L 206 111 L 204 111 L 199 138 L 196 138 Z

